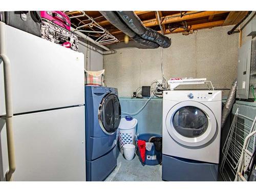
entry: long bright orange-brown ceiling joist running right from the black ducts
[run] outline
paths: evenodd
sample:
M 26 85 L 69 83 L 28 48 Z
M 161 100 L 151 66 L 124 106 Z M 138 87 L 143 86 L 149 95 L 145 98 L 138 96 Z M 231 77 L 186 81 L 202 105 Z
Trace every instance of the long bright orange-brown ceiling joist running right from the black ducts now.
M 178 13 L 178 14 L 164 16 L 161 19 L 163 20 L 162 24 L 169 24 L 169 23 L 175 23 L 175 22 L 182 22 L 183 20 L 207 17 L 210 15 L 217 15 L 217 14 L 222 14 L 227 12 L 229 11 L 203 11 L 198 13 L 195 13 L 195 11 L 188 11 L 186 13 L 187 15 L 184 15 L 182 17 L 180 17 L 180 13 Z M 191 13 L 195 13 L 195 14 L 191 14 Z M 145 27 L 152 27 L 152 26 L 158 25 L 157 19 L 144 20 L 143 24 Z

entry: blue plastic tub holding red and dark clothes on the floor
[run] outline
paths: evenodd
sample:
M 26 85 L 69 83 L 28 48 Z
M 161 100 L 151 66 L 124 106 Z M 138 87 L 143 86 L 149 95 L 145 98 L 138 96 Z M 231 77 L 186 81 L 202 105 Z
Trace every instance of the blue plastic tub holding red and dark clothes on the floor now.
M 162 137 L 162 136 L 159 135 L 159 134 L 155 134 L 155 133 L 142 133 L 142 134 L 139 134 L 136 137 L 136 142 L 138 142 L 138 140 L 145 140 L 146 142 L 148 142 L 148 140 L 151 137 Z M 158 164 L 160 164 L 162 162 L 162 153 L 161 152 L 157 152 L 155 150 L 155 146 L 154 145 L 152 146 L 150 152 L 146 150 L 146 157 L 145 157 L 145 161 L 144 162 L 142 162 L 142 159 L 140 158 L 140 152 L 139 152 L 138 146 L 137 146 L 137 153 L 138 153 L 140 162 L 143 163 L 143 164 L 146 164 L 146 165 L 158 165 Z

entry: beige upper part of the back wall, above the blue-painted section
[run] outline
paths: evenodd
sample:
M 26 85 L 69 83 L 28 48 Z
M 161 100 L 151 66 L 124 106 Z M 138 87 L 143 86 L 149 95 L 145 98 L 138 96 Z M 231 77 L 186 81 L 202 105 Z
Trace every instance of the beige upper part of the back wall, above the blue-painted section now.
M 229 89 L 237 77 L 238 63 L 238 34 L 227 35 L 231 28 L 168 35 L 172 45 L 163 49 L 165 77 L 206 77 L 215 88 Z M 121 48 L 115 54 L 104 55 L 107 86 L 118 88 L 120 96 L 131 96 L 138 87 L 161 79 L 160 50 Z

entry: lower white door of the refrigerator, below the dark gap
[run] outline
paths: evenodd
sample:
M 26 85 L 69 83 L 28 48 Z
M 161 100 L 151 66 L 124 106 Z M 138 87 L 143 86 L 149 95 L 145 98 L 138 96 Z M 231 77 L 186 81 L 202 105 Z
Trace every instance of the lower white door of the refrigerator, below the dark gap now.
M 1 180 L 8 171 L 6 127 L 0 119 Z M 15 181 L 85 181 L 84 106 L 13 117 Z

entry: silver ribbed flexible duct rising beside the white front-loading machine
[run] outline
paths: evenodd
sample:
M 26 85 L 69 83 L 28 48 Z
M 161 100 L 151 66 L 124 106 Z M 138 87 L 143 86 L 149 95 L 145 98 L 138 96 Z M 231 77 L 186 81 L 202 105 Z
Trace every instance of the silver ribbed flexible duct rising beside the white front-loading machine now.
M 237 79 L 235 79 L 232 83 L 231 89 L 228 93 L 227 100 L 224 104 L 224 107 L 222 109 L 222 115 L 221 115 L 221 128 L 223 128 L 227 117 L 232 109 L 234 100 L 236 99 L 236 90 L 237 90 Z

